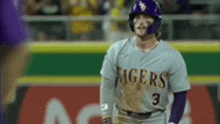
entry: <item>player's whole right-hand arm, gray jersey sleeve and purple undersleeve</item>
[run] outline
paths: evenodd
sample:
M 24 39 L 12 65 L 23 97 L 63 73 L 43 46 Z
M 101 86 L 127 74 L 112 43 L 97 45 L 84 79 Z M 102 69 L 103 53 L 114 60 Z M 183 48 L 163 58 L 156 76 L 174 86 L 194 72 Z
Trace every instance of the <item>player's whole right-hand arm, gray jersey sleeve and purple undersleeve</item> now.
M 187 100 L 187 91 L 190 90 L 187 69 L 182 55 L 177 52 L 172 56 L 169 70 L 170 91 L 174 93 L 169 122 L 178 124 L 183 116 Z

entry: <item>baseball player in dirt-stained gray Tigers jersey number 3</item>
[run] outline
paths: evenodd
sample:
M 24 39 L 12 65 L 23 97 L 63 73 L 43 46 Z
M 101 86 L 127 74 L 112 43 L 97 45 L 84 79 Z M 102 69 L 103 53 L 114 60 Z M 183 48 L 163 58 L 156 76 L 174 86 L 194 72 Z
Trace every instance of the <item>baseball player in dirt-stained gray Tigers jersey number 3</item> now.
M 112 44 L 100 71 L 103 124 L 179 123 L 190 84 L 180 52 L 159 39 L 161 21 L 154 0 L 132 6 L 129 23 L 135 36 Z M 166 118 L 170 92 L 174 102 Z

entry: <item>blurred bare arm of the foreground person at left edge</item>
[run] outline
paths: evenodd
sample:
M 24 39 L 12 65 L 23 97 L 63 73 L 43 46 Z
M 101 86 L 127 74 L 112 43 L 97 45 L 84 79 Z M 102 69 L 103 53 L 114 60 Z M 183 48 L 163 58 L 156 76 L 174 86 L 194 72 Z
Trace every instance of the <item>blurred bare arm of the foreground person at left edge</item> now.
M 3 46 L 1 46 L 3 47 Z M 2 81 L 3 81 L 3 103 L 6 105 L 14 102 L 15 100 L 15 89 L 16 89 L 16 80 L 19 77 L 24 76 L 26 70 L 30 52 L 29 45 L 20 44 L 14 48 L 7 48 L 4 46 L 3 49 L 8 49 L 8 52 L 4 54 L 2 59 Z

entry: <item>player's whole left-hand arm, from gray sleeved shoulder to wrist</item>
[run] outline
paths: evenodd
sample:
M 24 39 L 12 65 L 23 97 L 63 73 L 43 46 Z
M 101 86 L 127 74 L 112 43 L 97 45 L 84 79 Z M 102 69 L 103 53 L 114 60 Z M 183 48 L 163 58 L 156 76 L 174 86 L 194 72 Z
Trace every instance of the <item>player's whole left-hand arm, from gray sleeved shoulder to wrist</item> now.
M 114 87 L 117 78 L 117 51 L 119 49 L 118 44 L 111 45 L 107 54 L 105 55 L 102 69 L 100 74 L 102 75 L 102 83 L 100 86 L 100 103 L 102 110 L 103 123 L 105 120 L 111 120 L 113 111 L 113 98 Z M 106 123 L 108 124 L 108 123 Z

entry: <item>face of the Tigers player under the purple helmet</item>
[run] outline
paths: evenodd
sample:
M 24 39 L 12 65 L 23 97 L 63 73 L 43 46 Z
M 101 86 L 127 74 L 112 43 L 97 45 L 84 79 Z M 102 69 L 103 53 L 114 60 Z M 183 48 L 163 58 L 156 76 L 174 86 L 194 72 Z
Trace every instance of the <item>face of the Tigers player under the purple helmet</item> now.
M 154 19 L 149 15 L 136 15 L 134 18 L 134 30 L 137 36 L 143 37 L 147 36 L 147 28 L 152 25 Z

